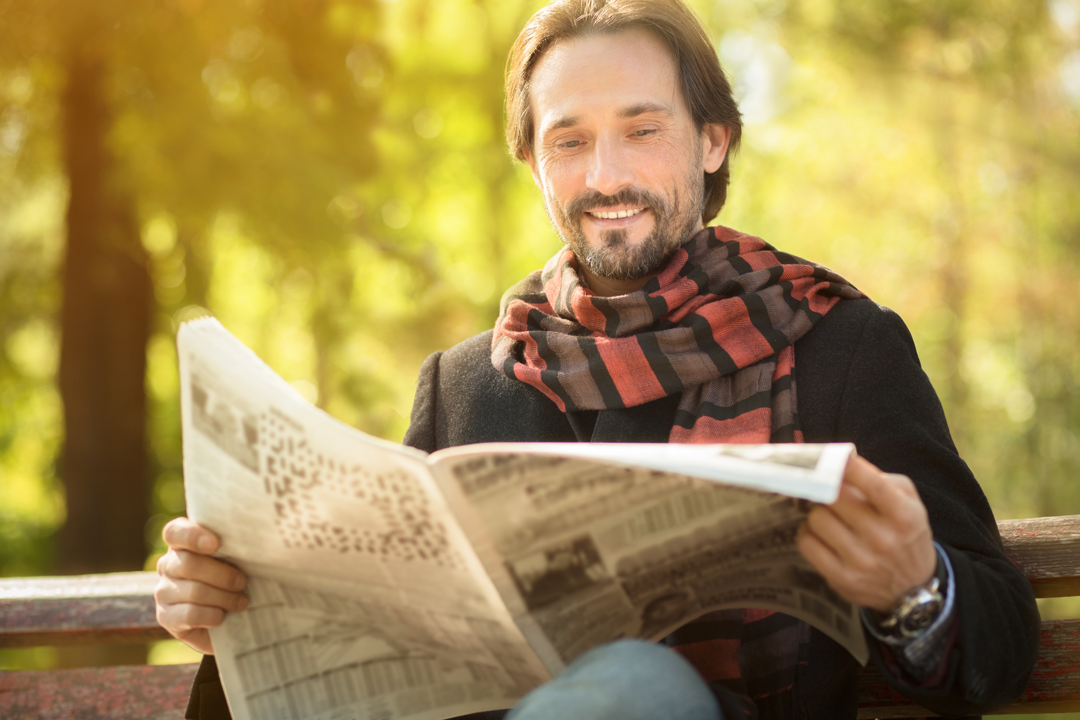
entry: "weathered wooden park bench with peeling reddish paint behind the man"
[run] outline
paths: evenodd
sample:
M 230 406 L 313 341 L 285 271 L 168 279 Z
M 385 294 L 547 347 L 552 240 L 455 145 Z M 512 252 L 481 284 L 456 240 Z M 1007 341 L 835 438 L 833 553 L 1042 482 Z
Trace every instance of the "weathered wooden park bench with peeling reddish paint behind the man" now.
M 1080 595 L 1080 515 L 998 522 L 1005 552 L 1036 597 Z M 149 642 L 150 572 L 0 580 L 0 648 Z M 195 665 L 0 671 L 0 719 L 178 720 Z M 999 715 L 1080 711 L 1080 620 L 1042 622 L 1039 661 L 1021 701 Z M 859 718 L 932 716 L 890 688 L 873 665 L 860 677 Z

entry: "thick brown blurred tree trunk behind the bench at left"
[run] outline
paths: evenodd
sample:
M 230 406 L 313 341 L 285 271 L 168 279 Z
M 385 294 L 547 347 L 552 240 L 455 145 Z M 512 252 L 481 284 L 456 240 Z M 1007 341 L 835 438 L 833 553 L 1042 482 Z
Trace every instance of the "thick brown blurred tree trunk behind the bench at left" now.
M 59 367 L 67 524 L 58 570 L 76 574 L 143 569 L 149 499 L 151 283 L 133 202 L 108 149 L 108 33 L 90 30 L 72 33 L 63 96 L 70 199 Z

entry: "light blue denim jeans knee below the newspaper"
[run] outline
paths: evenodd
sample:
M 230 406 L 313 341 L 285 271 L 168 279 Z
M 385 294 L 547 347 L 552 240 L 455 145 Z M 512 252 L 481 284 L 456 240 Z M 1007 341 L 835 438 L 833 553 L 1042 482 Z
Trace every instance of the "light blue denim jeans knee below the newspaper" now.
M 514 706 L 507 720 L 724 720 L 681 655 L 644 640 L 590 650 Z

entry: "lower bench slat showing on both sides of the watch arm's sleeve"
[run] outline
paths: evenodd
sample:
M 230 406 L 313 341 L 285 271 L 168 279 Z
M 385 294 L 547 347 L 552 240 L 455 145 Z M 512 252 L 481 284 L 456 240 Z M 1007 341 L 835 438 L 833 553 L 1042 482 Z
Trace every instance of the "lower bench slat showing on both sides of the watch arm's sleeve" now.
M 1080 711 L 1080 620 L 1045 620 L 1039 660 L 1018 703 L 991 715 Z M 869 664 L 859 676 L 859 718 L 937 717 L 893 690 Z

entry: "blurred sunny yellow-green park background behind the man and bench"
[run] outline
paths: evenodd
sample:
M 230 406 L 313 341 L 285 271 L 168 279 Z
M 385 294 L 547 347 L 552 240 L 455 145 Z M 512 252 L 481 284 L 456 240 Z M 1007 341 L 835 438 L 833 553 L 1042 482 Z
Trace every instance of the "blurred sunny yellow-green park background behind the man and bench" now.
M 541 4 L 0 0 L 0 575 L 153 567 L 186 318 L 402 438 L 559 245 L 502 140 Z M 717 221 L 904 317 L 998 517 L 1080 513 L 1080 0 L 690 4 L 746 120 Z

